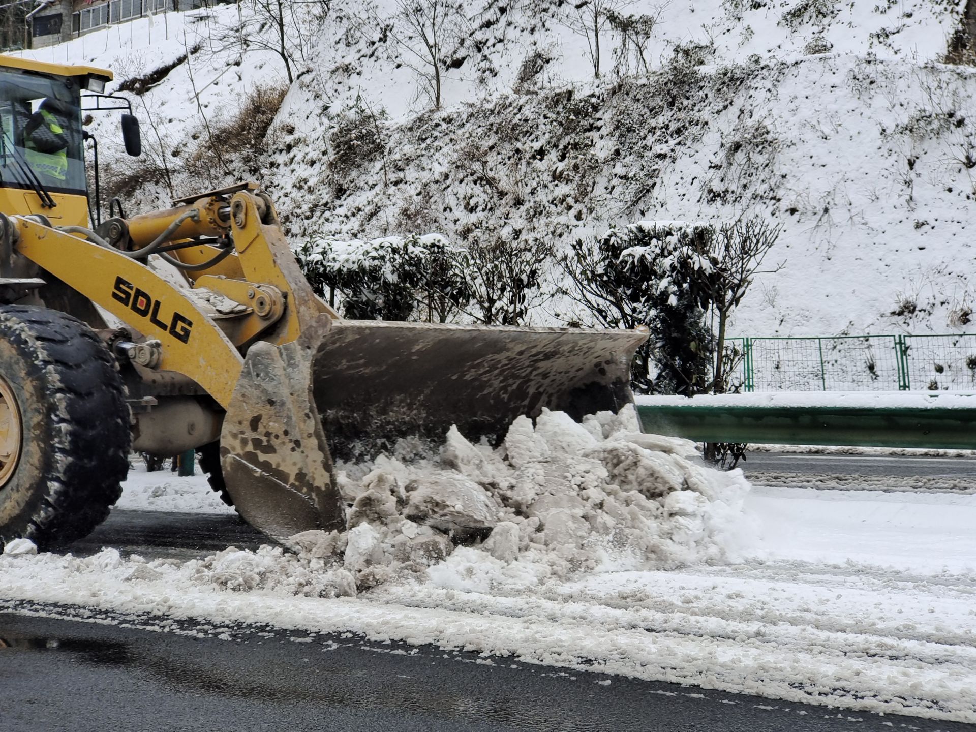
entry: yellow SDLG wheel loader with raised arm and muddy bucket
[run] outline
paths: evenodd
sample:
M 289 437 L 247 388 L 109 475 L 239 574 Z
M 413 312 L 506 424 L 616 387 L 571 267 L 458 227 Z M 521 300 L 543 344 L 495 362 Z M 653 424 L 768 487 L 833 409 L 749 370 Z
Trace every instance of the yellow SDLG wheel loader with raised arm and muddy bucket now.
M 130 450 L 197 450 L 213 487 L 285 542 L 344 528 L 335 460 L 452 425 L 497 442 L 543 407 L 580 419 L 631 401 L 641 333 L 343 319 L 255 183 L 131 218 L 112 202 L 102 221 L 82 115 L 128 104 L 103 94 L 110 79 L 0 57 L 0 547 L 90 532 Z M 131 113 L 122 133 L 140 154 Z

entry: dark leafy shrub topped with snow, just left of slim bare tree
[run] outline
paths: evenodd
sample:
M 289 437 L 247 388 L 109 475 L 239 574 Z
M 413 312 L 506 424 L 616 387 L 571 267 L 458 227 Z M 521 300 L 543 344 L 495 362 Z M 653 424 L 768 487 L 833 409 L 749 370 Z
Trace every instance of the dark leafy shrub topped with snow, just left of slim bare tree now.
M 707 386 L 709 304 L 697 283 L 711 266 L 713 237 L 709 225 L 641 222 L 612 228 L 596 240 L 578 239 L 560 258 L 569 283 L 564 294 L 583 305 L 595 324 L 650 328 L 651 338 L 637 350 L 630 370 L 639 393 L 690 395 Z

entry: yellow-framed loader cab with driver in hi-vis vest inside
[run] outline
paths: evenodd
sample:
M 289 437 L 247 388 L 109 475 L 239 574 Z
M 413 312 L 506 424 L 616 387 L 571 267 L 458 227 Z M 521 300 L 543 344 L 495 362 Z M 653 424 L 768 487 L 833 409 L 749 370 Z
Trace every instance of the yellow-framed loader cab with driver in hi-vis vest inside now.
M 111 78 L 88 66 L 0 56 L 0 213 L 90 225 L 82 93 L 101 94 Z

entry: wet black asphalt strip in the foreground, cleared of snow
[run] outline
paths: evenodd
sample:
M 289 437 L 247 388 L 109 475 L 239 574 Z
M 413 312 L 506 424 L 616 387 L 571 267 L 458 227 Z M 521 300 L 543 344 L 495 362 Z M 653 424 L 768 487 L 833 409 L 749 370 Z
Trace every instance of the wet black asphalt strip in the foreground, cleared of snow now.
M 70 611 L 20 607 L 31 610 Z M 104 625 L 118 620 L 107 615 L 99 620 L 0 612 L 0 730 L 972 729 L 486 661 L 429 646 L 188 623 L 160 632 Z M 224 639 L 212 637 L 219 633 Z

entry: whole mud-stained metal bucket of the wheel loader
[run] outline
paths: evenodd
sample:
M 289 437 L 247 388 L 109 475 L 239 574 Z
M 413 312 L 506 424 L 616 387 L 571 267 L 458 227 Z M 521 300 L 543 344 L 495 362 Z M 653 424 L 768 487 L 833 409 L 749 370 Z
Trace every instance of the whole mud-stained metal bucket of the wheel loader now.
M 512 420 L 543 407 L 577 420 L 617 411 L 632 401 L 630 361 L 646 338 L 320 318 L 295 344 L 248 351 L 224 420 L 227 489 L 276 539 L 339 528 L 333 460 L 375 457 L 405 437 L 439 446 L 452 425 L 498 444 Z

